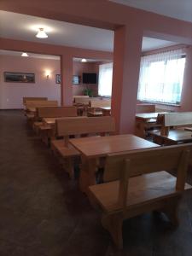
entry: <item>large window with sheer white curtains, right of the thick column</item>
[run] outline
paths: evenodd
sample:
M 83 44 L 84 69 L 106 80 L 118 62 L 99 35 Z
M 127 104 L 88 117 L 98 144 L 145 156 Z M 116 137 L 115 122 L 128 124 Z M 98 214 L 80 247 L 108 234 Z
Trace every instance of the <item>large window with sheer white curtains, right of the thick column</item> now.
M 137 98 L 140 101 L 179 104 L 185 66 L 183 49 L 143 56 Z

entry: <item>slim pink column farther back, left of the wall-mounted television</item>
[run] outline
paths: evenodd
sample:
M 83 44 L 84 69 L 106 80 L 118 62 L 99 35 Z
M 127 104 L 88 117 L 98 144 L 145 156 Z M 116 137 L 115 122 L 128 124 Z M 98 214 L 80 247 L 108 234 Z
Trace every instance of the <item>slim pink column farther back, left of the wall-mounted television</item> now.
M 73 105 L 73 56 L 61 55 L 61 106 Z

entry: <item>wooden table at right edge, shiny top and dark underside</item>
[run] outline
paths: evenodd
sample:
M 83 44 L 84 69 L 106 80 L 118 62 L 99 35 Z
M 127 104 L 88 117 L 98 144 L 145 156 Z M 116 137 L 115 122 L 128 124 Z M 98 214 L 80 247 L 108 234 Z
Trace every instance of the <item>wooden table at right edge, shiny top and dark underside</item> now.
M 149 132 L 154 136 L 154 142 L 160 145 L 175 145 L 178 143 L 192 143 L 191 131 L 185 131 L 183 129 L 170 130 L 169 134 L 160 135 L 160 131 Z

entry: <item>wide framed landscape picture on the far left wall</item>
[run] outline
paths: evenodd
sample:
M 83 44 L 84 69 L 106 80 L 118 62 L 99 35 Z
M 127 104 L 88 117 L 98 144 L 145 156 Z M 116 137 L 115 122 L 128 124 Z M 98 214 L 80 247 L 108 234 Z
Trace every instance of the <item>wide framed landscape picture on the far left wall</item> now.
M 35 74 L 4 72 L 4 81 L 7 83 L 35 83 Z

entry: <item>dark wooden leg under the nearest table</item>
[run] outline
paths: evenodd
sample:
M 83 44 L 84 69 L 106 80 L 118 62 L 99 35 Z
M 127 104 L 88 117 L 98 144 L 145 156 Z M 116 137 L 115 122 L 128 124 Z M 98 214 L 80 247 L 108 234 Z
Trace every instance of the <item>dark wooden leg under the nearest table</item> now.
M 96 184 L 96 159 L 86 159 L 82 157 L 80 168 L 79 185 L 82 192 L 87 193 L 90 185 Z

